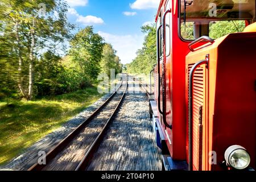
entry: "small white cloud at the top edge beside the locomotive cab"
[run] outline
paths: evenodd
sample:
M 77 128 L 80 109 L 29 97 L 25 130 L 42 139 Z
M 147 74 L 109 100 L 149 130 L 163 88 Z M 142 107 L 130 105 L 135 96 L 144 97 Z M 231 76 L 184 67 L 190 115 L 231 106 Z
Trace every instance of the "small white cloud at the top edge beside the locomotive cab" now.
M 136 0 L 130 4 L 131 9 L 145 10 L 145 9 L 157 9 L 160 0 Z

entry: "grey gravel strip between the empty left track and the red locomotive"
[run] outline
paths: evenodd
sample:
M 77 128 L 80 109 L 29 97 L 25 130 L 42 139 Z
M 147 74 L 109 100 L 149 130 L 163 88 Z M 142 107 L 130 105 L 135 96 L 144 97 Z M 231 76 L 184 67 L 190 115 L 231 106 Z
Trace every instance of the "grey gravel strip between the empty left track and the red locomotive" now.
M 141 84 L 133 77 L 129 77 L 129 89 L 121 109 L 109 126 L 98 150 L 90 157 L 90 163 L 85 170 L 160 169 L 154 138 L 151 138 L 151 120 L 148 120 L 146 111 L 147 98 Z

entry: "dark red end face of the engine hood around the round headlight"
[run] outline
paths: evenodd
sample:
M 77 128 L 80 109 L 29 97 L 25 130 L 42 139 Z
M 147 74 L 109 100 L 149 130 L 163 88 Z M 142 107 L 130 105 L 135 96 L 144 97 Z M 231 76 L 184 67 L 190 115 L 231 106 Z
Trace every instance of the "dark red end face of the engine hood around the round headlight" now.
M 256 33 L 229 35 L 218 47 L 212 150 L 218 162 L 226 148 L 241 145 L 255 168 Z M 212 169 L 220 169 L 213 165 Z

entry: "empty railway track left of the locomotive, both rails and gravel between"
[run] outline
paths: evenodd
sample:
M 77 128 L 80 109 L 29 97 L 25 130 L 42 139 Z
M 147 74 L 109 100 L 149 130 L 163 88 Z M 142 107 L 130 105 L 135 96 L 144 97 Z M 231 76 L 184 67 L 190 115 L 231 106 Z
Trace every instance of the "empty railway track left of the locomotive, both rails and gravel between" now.
M 126 82 L 125 86 L 123 86 L 124 81 Z M 46 164 L 36 163 L 28 171 L 80 171 L 86 169 L 126 92 L 127 79 L 123 79 L 104 104 L 46 154 Z

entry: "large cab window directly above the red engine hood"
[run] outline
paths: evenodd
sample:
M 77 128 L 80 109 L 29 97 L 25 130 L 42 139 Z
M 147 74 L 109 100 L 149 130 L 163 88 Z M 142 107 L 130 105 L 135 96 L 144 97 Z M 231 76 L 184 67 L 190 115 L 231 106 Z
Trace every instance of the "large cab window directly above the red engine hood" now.
M 195 40 L 207 35 L 213 39 L 241 32 L 245 20 L 255 22 L 255 0 L 180 0 L 179 36 Z

